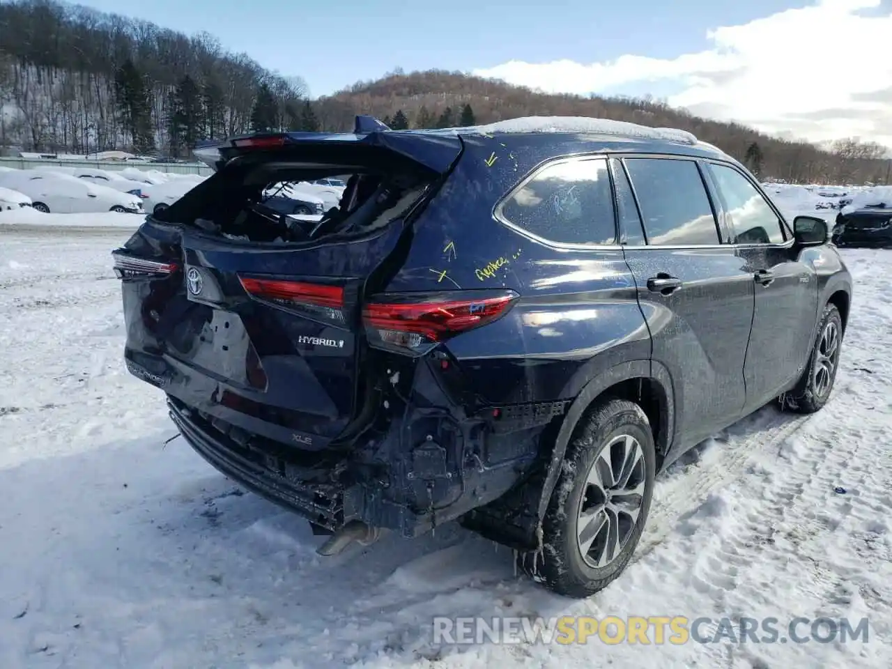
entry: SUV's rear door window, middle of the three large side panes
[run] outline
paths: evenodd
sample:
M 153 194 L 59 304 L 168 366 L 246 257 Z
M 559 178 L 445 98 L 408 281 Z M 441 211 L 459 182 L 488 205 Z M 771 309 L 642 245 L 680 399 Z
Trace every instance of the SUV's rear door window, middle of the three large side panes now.
M 638 195 L 648 244 L 719 244 L 713 208 L 696 162 L 628 158 L 625 165 Z

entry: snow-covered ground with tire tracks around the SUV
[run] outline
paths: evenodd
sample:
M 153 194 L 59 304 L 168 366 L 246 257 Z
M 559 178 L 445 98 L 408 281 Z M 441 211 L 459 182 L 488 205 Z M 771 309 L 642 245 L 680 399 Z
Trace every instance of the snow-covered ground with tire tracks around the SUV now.
M 301 518 L 165 443 L 161 392 L 121 359 L 109 251 L 127 236 L 0 229 L 3 669 L 892 666 L 892 252 L 844 252 L 855 301 L 827 407 L 768 407 L 692 450 L 660 478 L 625 574 L 579 602 L 454 525 L 318 558 Z M 870 627 L 847 643 L 442 647 L 436 615 Z

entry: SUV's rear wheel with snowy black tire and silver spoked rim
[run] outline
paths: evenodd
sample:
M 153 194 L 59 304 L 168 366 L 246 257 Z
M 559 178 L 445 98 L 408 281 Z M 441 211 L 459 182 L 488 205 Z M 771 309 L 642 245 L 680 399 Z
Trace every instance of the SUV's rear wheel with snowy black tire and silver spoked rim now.
M 589 475 L 610 471 L 613 468 L 611 474 L 615 479 L 617 476 L 615 467 L 623 461 L 623 458 L 617 456 L 621 451 L 629 449 L 627 437 L 632 437 L 634 442 L 637 442 L 640 447 L 640 458 L 624 460 L 626 463 L 632 463 L 631 476 L 628 477 L 625 490 L 628 491 L 631 486 L 641 492 L 627 492 L 624 496 L 618 491 L 607 492 L 607 497 L 600 500 L 604 494 L 602 489 L 607 489 L 608 486 L 589 483 Z M 617 439 L 622 441 L 615 443 Z M 610 446 L 609 452 L 617 460 L 614 467 L 607 467 L 607 446 Z M 598 468 L 593 470 L 596 466 Z M 533 580 L 543 583 L 549 590 L 567 597 L 577 599 L 591 597 L 595 592 L 606 588 L 623 573 L 638 545 L 641 531 L 648 519 L 656 469 L 654 437 L 644 411 L 631 401 L 615 398 L 598 401 L 587 415 L 582 417 L 573 439 L 567 445 L 564 467 L 561 468 L 558 483 L 542 522 L 543 549 L 539 554 L 519 554 L 517 566 Z M 612 504 L 611 500 L 622 501 L 617 506 Z M 601 503 L 602 501 L 606 501 L 607 504 Z M 577 530 L 585 505 L 605 509 L 591 516 L 592 518 L 607 518 L 607 529 L 604 530 L 602 524 L 602 529 L 594 534 L 590 543 L 589 555 L 592 557 L 583 557 L 582 546 L 577 539 Z M 633 518 L 631 511 L 636 506 L 638 515 Z M 614 510 L 608 513 L 608 509 Z M 610 533 L 611 523 L 617 530 L 619 550 L 611 559 L 599 566 L 594 558 L 597 557 L 599 546 L 606 543 L 604 540 Z M 619 537 L 620 534 L 623 535 L 622 538 Z M 609 558 L 609 555 L 607 557 Z

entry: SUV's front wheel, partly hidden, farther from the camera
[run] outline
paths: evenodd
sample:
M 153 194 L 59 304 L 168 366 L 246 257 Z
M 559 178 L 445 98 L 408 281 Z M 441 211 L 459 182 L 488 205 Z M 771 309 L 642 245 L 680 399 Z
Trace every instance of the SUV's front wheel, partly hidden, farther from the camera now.
M 836 332 L 836 343 L 830 355 L 827 355 L 828 330 Z M 821 322 L 818 325 L 818 335 L 814 340 L 812 354 L 808 357 L 805 371 L 799 377 L 793 390 L 780 396 L 780 405 L 784 409 L 792 409 L 801 414 L 814 414 L 820 411 L 830 399 L 833 391 L 833 383 L 836 381 L 836 373 L 839 368 L 839 352 L 842 350 L 842 317 L 839 310 L 833 304 L 824 307 Z M 830 362 L 830 369 L 827 368 Z M 826 375 L 824 378 L 823 375 Z

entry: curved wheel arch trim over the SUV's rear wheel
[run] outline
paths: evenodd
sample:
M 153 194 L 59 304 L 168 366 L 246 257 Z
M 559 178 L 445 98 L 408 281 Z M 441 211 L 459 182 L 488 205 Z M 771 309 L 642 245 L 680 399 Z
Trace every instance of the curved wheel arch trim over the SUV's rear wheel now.
M 602 397 L 615 396 L 633 401 L 644 410 L 657 446 L 657 471 L 659 471 L 665 454 L 673 442 L 675 407 L 672 388 L 672 378 L 668 370 L 652 360 L 630 360 L 620 363 L 608 368 L 582 387 L 582 391 L 566 410 L 555 438 L 548 472 L 540 492 L 536 516 L 539 524 L 545 516 L 551 493 L 558 483 L 567 445 L 573 439 L 577 426 L 592 404 Z

